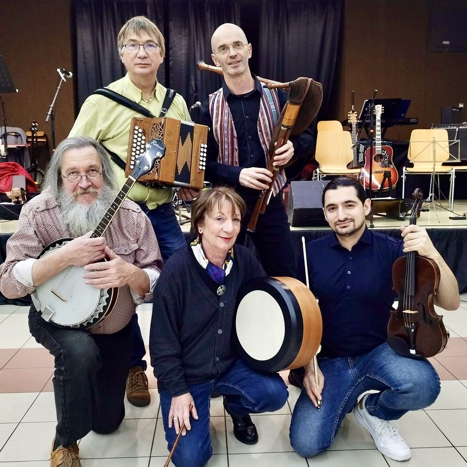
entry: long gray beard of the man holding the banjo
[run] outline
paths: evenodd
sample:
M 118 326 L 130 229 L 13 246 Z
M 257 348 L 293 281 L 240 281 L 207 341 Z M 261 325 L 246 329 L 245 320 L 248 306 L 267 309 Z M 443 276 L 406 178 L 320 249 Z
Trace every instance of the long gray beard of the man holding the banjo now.
M 82 190 L 83 193 L 87 191 L 88 189 Z M 63 186 L 59 187 L 57 204 L 62 212 L 62 220 L 70 235 L 72 237 L 79 237 L 93 231 L 114 198 L 115 192 L 105 184 L 96 201 L 90 205 L 79 204 L 73 195 L 65 191 Z

